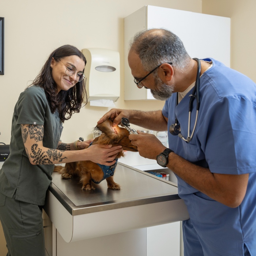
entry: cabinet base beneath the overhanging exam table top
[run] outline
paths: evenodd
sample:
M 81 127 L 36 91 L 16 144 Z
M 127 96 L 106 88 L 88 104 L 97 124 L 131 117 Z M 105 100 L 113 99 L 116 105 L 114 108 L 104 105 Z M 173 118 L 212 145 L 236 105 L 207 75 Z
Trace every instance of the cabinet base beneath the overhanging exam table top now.
M 67 243 L 45 212 L 43 219 L 46 256 L 180 256 L 180 222 Z

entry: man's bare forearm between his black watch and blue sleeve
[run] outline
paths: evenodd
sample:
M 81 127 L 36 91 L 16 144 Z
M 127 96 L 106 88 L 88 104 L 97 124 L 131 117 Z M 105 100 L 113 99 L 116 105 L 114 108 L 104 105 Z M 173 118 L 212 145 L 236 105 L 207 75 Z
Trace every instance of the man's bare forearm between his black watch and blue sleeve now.
M 212 173 L 210 169 L 194 165 L 174 153 L 169 154 L 167 167 L 192 187 L 226 206 L 235 208 L 244 199 L 248 173 L 240 175 Z

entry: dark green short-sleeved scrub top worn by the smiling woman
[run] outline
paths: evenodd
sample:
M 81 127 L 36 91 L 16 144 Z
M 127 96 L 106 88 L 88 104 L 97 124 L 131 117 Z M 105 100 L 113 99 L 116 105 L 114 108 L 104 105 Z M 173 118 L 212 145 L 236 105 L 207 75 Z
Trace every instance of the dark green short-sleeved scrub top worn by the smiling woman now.
M 50 111 L 44 89 L 31 86 L 14 108 L 10 155 L 0 170 L 0 192 L 16 200 L 44 205 L 54 165 L 32 165 L 27 156 L 20 124 L 44 125 L 43 145 L 56 149 L 62 132 L 59 113 Z M 37 150 L 38 151 L 38 148 Z M 16 193 L 15 193 L 16 192 Z

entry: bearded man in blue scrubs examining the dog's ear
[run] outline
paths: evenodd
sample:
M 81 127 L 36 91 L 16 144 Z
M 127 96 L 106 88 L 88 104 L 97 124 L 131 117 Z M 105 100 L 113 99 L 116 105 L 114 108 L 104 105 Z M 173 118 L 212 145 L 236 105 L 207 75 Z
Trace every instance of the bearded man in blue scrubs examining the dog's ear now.
M 178 193 L 190 219 L 183 222 L 185 256 L 256 255 L 256 85 L 212 58 L 200 60 L 200 109 L 195 132 L 193 102 L 188 142 L 190 95 L 199 63 L 180 39 L 167 30 L 135 35 L 128 55 L 134 82 L 165 100 L 161 110 L 111 109 L 106 118 L 122 117 L 155 131 L 168 131 L 169 149 L 151 134 L 129 138 L 141 156 L 173 170 Z M 177 123 L 181 134 L 169 127 Z M 161 154 L 163 153 L 163 154 Z

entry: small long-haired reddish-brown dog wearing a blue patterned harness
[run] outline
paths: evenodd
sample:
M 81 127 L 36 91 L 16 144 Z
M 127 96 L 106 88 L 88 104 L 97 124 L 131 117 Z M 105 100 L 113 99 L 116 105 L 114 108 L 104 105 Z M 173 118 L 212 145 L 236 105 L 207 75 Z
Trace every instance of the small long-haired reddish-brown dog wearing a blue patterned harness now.
M 102 134 L 93 140 L 92 144 L 112 144 L 112 145 L 121 145 L 124 150 L 137 152 L 137 147 L 131 144 L 129 140 L 129 132 L 127 129 L 122 127 L 112 127 L 112 121 L 105 120 L 103 123 L 98 124 L 95 127 L 95 131 L 101 131 Z M 124 157 L 123 151 L 120 151 L 117 154 L 116 158 Z M 72 178 L 72 176 L 80 177 L 80 182 L 83 183 L 82 189 L 91 190 L 95 189 L 92 185 L 92 182 L 98 184 L 105 179 L 105 175 L 109 174 L 106 178 L 108 188 L 111 189 L 120 189 L 120 185 L 114 182 L 113 174 L 114 168 L 116 167 L 115 163 L 112 166 L 99 166 L 97 163 L 91 161 L 79 161 L 66 163 L 65 166 L 55 166 L 54 172 L 61 173 L 61 177 L 64 179 Z M 103 172 L 103 169 L 104 172 Z M 107 170 L 106 170 L 107 169 Z

